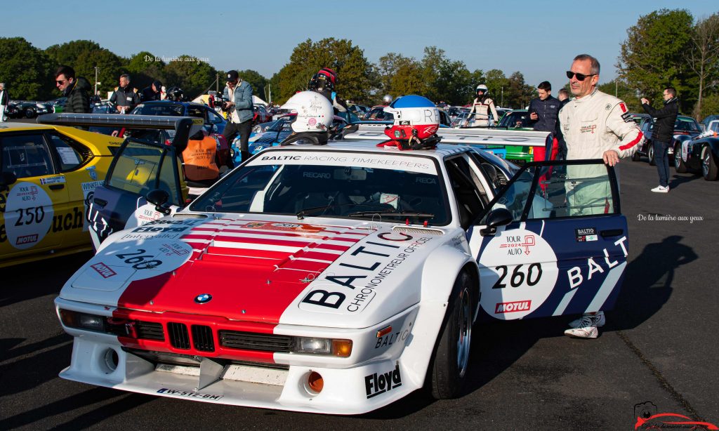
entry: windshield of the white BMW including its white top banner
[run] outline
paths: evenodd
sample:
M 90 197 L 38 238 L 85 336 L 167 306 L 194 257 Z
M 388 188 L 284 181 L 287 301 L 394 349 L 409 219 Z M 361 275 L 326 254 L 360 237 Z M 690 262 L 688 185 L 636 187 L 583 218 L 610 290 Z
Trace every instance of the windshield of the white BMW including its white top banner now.
M 428 157 L 265 150 L 190 210 L 445 225 L 450 216 L 442 184 Z

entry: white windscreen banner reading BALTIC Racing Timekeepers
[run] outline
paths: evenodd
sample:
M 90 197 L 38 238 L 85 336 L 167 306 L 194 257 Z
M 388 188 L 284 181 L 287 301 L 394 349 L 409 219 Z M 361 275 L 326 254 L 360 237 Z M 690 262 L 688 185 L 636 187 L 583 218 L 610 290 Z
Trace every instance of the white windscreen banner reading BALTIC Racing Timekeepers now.
M 315 164 L 319 166 L 352 166 L 373 169 L 403 170 L 436 175 L 431 159 L 396 154 L 361 154 L 352 152 L 317 153 L 306 151 L 271 151 L 255 157 L 248 166 L 275 164 Z

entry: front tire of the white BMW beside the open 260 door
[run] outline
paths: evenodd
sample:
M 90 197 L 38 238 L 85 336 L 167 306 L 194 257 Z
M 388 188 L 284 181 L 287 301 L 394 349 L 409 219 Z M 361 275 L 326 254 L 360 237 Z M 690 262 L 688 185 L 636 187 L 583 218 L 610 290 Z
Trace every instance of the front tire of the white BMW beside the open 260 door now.
M 476 308 L 470 275 L 461 272 L 454 282 L 427 372 L 427 389 L 434 399 L 457 398 L 462 394 L 470 368 L 472 321 Z

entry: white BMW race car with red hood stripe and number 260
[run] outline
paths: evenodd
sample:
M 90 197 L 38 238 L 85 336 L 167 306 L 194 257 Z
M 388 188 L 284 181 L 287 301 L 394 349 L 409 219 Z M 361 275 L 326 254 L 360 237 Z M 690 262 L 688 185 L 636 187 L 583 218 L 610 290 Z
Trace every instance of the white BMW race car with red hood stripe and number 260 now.
M 273 147 L 104 239 L 55 300 L 74 337 L 60 376 L 328 414 L 457 397 L 482 322 L 609 310 L 627 249 L 601 160 Z

